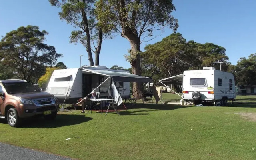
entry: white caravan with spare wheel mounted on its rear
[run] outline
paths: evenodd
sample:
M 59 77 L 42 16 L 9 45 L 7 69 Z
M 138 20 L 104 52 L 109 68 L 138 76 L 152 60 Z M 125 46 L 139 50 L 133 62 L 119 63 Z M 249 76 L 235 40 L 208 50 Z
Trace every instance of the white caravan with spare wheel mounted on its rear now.
M 214 67 L 184 71 L 182 90 L 183 100 L 193 101 L 194 104 L 214 102 L 220 106 L 236 98 L 233 74 L 215 70 Z

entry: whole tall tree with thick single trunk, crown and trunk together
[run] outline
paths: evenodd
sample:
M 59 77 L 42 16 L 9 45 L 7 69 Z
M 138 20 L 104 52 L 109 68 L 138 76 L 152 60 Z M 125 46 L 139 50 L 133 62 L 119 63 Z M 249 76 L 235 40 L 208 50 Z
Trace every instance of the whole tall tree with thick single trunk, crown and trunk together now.
M 175 31 L 178 20 L 172 16 L 174 10 L 172 0 L 98 0 L 95 13 L 103 32 L 120 32 L 130 42 L 126 58 L 132 65 L 133 74 L 141 75 L 141 42 L 154 38 L 154 30 L 168 27 Z M 142 94 L 141 85 L 134 84 L 136 97 Z

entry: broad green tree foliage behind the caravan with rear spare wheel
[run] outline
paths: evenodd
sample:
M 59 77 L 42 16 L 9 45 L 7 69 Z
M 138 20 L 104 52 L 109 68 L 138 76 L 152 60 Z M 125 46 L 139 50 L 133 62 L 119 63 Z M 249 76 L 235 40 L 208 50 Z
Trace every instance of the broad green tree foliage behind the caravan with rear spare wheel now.
M 141 54 L 142 72 L 156 83 L 161 78 L 182 74 L 184 70 L 215 66 L 216 62 L 227 62 L 225 48 L 216 44 L 186 42 L 180 33 L 167 36 L 162 41 L 145 47 Z M 224 68 L 226 69 L 226 68 Z

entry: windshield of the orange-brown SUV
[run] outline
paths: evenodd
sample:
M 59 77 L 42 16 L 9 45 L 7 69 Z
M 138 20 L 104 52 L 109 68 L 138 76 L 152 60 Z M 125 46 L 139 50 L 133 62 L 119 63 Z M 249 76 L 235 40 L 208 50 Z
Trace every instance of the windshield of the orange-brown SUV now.
M 5 83 L 3 85 L 8 94 L 40 92 L 40 90 L 30 82 Z

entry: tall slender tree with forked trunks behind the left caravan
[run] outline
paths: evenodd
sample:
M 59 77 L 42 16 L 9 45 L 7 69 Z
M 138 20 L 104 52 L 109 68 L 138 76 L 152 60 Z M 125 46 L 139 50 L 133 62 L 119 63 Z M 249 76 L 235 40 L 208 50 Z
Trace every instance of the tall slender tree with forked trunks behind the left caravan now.
M 70 35 L 70 43 L 81 43 L 86 47 L 90 66 L 94 65 L 92 51 L 95 54 L 95 65 L 99 65 L 99 54 L 102 40 L 112 38 L 110 34 L 102 34 L 102 29 L 97 26 L 94 15 L 95 0 L 49 0 L 52 6 L 61 8 L 59 16 L 75 28 Z

